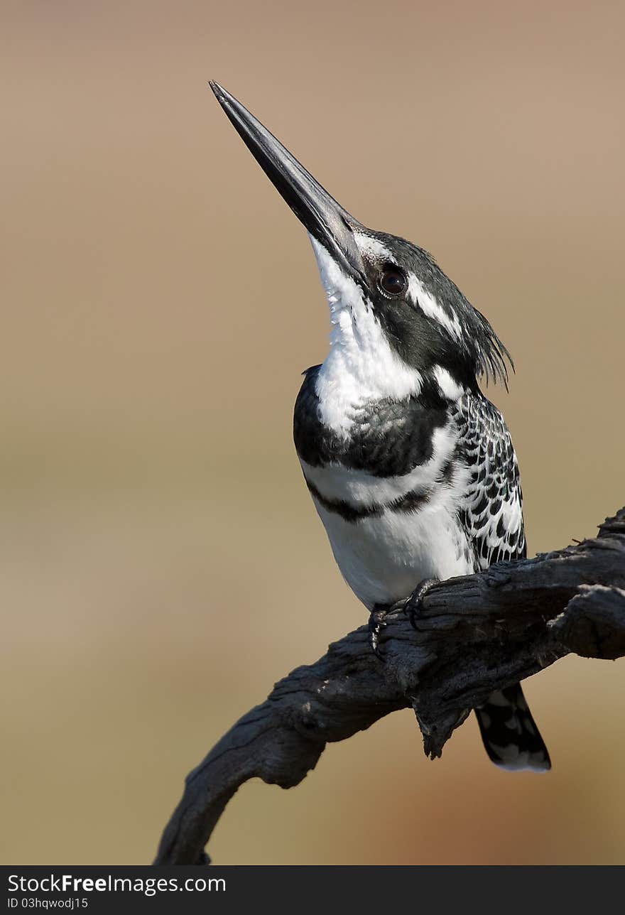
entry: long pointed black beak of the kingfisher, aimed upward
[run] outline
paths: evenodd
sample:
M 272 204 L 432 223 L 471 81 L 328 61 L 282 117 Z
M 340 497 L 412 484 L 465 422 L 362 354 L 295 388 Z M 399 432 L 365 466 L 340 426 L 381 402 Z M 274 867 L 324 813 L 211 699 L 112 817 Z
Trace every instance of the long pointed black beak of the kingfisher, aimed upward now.
M 265 175 L 286 200 L 312 237 L 326 249 L 341 270 L 360 285 L 366 285 L 361 253 L 354 238 L 360 223 L 330 197 L 295 156 L 270 134 L 218 82 L 210 82 L 217 101 Z

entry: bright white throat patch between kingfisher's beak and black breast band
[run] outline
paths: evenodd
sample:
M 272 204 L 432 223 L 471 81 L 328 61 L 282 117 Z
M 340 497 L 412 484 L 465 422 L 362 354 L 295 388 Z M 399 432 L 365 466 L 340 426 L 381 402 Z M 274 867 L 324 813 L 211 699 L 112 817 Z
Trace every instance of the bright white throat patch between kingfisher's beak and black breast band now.
M 386 339 L 371 302 L 312 236 L 330 309 L 328 357 L 318 371 L 321 421 L 347 437 L 354 414 L 368 400 L 401 401 L 421 390 L 422 376 L 405 365 Z

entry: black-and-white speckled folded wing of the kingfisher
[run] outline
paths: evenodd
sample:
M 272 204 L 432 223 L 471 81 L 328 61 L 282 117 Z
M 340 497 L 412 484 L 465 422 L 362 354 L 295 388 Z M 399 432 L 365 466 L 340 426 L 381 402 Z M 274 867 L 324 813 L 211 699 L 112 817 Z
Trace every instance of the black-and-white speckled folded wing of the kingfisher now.
M 469 467 L 460 507 L 475 571 L 527 554 L 523 493 L 512 438 L 503 416 L 486 397 L 469 394 L 458 416 L 458 445 Z

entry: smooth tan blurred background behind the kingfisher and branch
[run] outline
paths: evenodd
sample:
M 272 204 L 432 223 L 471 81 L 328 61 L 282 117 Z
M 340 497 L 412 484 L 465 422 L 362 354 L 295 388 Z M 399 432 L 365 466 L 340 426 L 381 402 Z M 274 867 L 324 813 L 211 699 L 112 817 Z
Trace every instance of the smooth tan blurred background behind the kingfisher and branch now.
M 619 9 L 620 6 L 620 9 Z M 2 854 L 142 863 L 182 780 L 364 621 L 291 415 L 328 315 L 207 81 L 361 221 L 436 254 L 517 364 L 490 391 L 532 552 L 623 502 L 622 5 L 5 2 Z M 412 714 L 261 782 L 218 863 L 622 863 L 622 663 L 526 685 L 549 776 Z

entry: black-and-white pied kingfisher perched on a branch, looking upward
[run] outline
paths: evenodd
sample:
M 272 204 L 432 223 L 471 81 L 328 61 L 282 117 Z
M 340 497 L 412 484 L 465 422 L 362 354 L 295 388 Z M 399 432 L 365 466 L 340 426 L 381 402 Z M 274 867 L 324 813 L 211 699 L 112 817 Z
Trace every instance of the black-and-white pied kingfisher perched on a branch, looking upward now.
M 482 380 L 507 389 L 512 358 L 426 250 L 365 227 L 230 92 L 210 88 L 312 243 L 330 345 L 303 373 L 294 441 L 380 656 L 398 601 L 409 596 L 414 621 L 437 581 L 527 554 L 512 438 L 480 389 Z M 551 768 L 521 684 L 474 711 L 495 765 Z

